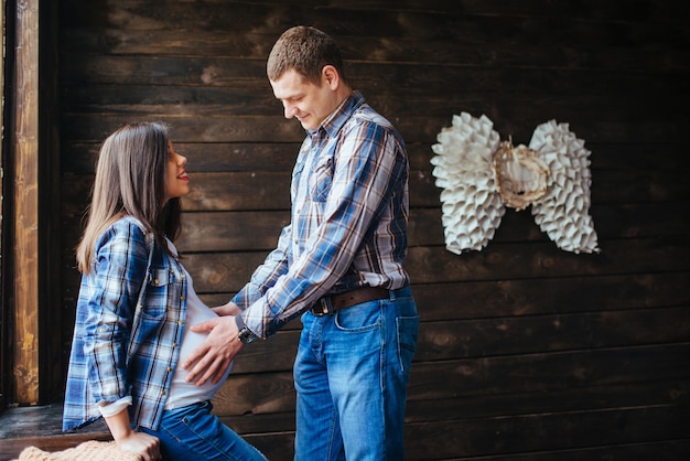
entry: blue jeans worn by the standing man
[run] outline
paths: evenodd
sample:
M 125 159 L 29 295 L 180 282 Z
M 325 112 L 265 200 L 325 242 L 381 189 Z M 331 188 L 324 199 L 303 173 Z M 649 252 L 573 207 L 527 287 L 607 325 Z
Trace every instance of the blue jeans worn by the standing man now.
M 294 362 L 299 461 L 403 457 L 419 317 L 409 288 L 334 314 L 302 315 Z

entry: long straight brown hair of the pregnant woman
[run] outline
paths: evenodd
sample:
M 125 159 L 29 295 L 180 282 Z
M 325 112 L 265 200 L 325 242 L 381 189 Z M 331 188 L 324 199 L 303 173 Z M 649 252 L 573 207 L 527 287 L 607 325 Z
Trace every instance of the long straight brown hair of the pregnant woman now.
M 162 122 L 130 124 L 103 143 L 88 208 L 88 221 L 77 246 L 77 264 L 88 274 L 98 236 L 115 221 L 131 215 L 153 233 L 168 251 L 165 236 L 180 232 L 180 199 L 165 200 L 170 156 L 168 127 Z

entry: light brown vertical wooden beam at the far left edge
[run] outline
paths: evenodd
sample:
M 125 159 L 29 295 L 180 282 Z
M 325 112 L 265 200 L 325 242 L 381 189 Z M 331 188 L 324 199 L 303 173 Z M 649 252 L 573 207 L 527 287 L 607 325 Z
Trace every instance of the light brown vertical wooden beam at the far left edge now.
M 39 0 L 17 6 L 14 401 L 39 401 Z

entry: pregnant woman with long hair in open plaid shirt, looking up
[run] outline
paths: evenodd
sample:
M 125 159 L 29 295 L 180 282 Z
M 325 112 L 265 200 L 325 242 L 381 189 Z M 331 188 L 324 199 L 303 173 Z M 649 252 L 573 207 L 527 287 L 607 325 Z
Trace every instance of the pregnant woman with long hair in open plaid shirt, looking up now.
M 63 430 L 103 416 L 117 444 L 144 461 L 265 460 L 211 414 L 223 380 L 195 386 L 177 366 L 205 336 L 185 326 L 217 315 L 196 296 L 172 242 L 180 197 L 190 192 L 185 164 L 158 122 L 127 125 L 100 149 L 77 247 Z

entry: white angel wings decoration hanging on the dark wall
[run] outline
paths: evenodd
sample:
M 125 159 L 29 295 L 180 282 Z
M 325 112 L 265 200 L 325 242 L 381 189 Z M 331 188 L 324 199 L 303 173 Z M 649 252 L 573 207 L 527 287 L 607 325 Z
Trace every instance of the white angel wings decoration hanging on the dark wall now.
M 505 207 L 531 205 L 535 222 L 567 251 L 599 253 L 590 211 L 590 151 L 568 124 L 539 125 L 529 148 L 500 142 L 486 117 L 462 112 L 432 149 L 445 247 L 460 255 L 494 238 Z

